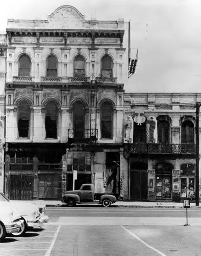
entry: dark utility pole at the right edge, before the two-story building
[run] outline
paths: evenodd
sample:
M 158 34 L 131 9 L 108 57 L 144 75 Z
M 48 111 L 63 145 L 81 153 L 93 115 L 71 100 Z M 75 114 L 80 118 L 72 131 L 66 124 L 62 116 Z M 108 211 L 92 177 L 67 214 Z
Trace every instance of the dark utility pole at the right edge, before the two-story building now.
M 195 205 L 199 206 L 199 108 L 201 103 L 196 103 L 196 164 L 195 164 Z

